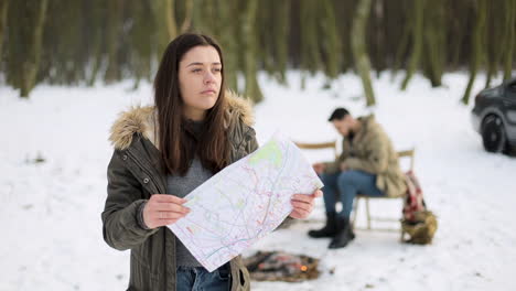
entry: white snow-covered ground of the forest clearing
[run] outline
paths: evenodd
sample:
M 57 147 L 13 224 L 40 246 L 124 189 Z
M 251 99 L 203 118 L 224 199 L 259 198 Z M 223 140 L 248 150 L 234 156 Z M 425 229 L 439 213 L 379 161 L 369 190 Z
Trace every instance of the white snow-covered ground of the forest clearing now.
M 398 241 L 396 233 L 358 230 L 346 248 L 309 239 L 320 227 L 322 201 L 309 223 L 275 231 L 256 250 L 288 250 L 321 258 L 322 276 L 302 283 L 254 282 L 252 290 L 515 290 L 516 159 L 483 151 L 459 103 L 465 74 L 448 74 L 433 89 L 416 76 L 375 79 L 373 110 L 399 150 L 416 148 L 416 173 L 439 229 L 429 246 Z M 366 114 L 362 87 L 344 75 L 332 89 L 324 78 L 289 74 L 290 87 L 260 76 L 266 100 L 256 107 L 258 140 L 281 130 L 297 141 L 336 138 L 326 121 L 337 106 Z M 482 87 L 479 78 L 474 93 Z M 151 86 L 122 83 L 96 88 L 39 86 L 29 100 L 0 87 L 0 290 L 125 290 L 129 252 L 101 237 L 107 141 L 111 122 L 130 105 L 148 104 Z M 331 152 L 307 152 L 312 161 Z M 36 163 L 42 158 L 44 162 Z M 406 164 L 405 164 L 406 165 Z M 400 216 L 399 201 L 373 202 L 373 211 Z M 358 224 L 364 225 L 361 208 Z M 390 225 L 398 227 L 397 224 Z M 515 268 L 515 269 L 513 269 Z

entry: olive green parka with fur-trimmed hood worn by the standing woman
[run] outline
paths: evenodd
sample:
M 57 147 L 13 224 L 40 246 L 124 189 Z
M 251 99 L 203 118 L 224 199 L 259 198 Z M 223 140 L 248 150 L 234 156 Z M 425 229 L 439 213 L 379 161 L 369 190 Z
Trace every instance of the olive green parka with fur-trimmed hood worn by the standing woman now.
M 226 93 L 225 128 L 230 163 L 258 148 L 250 104 Z M 106 242 L 130 249 L 128 290 L 175 291 L 175 236 L 168 227 L 144 229 L 138 224 L 139 206 L 152 194 L 166 193 L 166 176 L 157 147 L 154 107 L 122 112 L 111 128 L 115 147 L 108 165 L 107 198 L 103 218 Z M 232 290 L 249 290 L 249 273 L 238 256 L 230 260 Z

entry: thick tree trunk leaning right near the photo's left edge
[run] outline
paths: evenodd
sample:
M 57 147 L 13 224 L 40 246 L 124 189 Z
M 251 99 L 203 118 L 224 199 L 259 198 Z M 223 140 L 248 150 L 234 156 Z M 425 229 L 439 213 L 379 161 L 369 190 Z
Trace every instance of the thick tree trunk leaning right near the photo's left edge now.
M 35 15 L 35 24 L 32 34 L 32 45 L 26 60 L 23 62 L 23 83 L 20 88 L 20 97 L 29 98 L 29 93 L 34 88 L 40 58 L 42 53 L 43 31 L 45 26 L 47 0 L 41 0 Z

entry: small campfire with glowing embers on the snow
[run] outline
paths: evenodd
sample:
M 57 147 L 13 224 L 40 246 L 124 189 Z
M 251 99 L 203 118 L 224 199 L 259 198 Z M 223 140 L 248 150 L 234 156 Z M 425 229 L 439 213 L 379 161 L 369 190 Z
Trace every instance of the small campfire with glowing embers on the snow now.
M 245 259 L 250 277 L 257 281 L 300 282 L 319 277 L 319 259 L 283 251 L 258 251 Z

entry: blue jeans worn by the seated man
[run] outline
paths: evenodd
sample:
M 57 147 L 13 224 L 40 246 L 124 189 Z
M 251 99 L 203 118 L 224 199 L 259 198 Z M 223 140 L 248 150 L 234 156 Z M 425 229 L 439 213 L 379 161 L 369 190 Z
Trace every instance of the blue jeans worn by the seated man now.
M 376 186 L 376 175 L 364 171 L 350 170 L 335 174 L 322 174 L 321 181 L 324 183 L 322 191 L 326 213 L 336 212 L 335 204 L 340 194 L 342 212 L 337 214 L 338 217 L 350 218 L 353 201 L 358 193 L 372 197 L 385 196 Z

